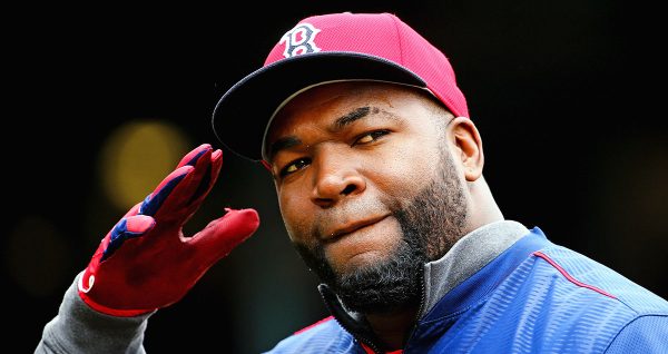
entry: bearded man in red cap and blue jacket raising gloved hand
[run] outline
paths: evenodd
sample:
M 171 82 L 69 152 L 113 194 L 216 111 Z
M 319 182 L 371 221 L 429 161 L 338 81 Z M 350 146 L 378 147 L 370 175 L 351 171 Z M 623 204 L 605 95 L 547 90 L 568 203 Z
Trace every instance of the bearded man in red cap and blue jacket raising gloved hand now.
M 503 218 L 448 59 L 395 16 L 299 21 L 223 96 L 213 125 L 272 173 L 332 314 L 272 352 L 668 351 L 668 302 Z M 128 212 L 38 352 L 144 352 L 148 317 L 258 226 L 255 210 L 227 209 L 183 234 L 220 166 L 202 145 Z

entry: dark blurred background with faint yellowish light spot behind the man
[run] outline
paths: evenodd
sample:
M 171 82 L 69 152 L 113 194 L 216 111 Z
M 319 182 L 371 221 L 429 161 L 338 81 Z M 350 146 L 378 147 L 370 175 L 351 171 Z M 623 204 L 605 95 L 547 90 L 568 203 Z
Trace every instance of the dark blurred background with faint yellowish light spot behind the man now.
M 17 12 L 3 55 L 1 286 L 11 341 L 30 351 L 125 212 L 188 150 L 222 147 L 210 126 L 218 98 L 321 12 L 393 12 L 442 49 L 505 217 L 668 298 L 658 11 L 615 0 L 58 6 Z M 269 175 L 224 153 L 219 183 L 186 230 L 224 207 L 256 208 L 261 227 L 150 318 L 149 353 L 258 353 L 327 315 Z

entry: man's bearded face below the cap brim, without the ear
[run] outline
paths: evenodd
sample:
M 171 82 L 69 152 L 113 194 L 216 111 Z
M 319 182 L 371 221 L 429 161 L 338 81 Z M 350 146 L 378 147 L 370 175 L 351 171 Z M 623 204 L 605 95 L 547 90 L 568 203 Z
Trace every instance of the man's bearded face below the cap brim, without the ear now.
M 415 89 L 331 83 L 289 101 L 268 132 L 291 240 L 353 309 L 414 302 L 422 264 L 461 236 L 465 198 L 445 138 L 451 116 L 438 110 Z

